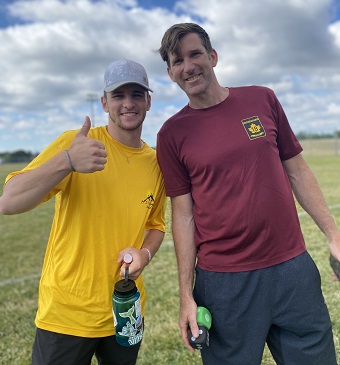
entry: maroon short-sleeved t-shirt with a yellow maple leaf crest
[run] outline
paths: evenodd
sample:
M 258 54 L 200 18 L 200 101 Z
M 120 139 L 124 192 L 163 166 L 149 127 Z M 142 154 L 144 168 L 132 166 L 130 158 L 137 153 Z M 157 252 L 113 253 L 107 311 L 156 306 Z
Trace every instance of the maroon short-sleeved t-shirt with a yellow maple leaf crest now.
M 248 271 L 306 250 L 286 172 L 302 151 L 274 92 L 230 88 L 206 109 L 184 107 L 158 133 L 168 196 L 192 194 L 198 266 Z

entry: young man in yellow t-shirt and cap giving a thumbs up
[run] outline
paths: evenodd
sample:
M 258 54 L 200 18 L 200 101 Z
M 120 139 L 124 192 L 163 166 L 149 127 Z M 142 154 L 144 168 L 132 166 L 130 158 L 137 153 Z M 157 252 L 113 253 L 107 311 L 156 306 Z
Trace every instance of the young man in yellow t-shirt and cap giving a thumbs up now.
M 130 253 L 145 309 L 141 273 L 164 237 L 165 192 L 154 149 L 142 139 L 151 106 L 147 74 L 130 60 L 105 72 L 106 126 L 67 131 L 27 167 L 11 173 L 1 214 L 55 197 L 55 215 L 39 287 L 33 365 L 134 364 L 140 343 L 115 341 L 111 296 Z

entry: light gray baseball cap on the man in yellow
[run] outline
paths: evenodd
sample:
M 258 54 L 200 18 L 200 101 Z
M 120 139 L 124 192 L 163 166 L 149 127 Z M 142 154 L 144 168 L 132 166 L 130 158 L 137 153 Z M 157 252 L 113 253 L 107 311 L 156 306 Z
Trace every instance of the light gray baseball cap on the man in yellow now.
M 105 71 L 104 90 L 111 92 L 126 84 L 137 84 L 152 92 L 145 68 L 141 64 L 126 59 L 112 62 Z

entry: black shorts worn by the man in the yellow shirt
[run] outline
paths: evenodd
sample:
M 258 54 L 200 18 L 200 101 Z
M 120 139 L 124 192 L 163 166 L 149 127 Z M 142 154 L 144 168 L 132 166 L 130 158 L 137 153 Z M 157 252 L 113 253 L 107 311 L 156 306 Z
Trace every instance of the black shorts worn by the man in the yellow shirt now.
M 99 365 L 134 365 L 140 344 L 125 347 L 115 336 L 87 338 L 37 328 L 32 365 L 90 365 L 93 355 Z

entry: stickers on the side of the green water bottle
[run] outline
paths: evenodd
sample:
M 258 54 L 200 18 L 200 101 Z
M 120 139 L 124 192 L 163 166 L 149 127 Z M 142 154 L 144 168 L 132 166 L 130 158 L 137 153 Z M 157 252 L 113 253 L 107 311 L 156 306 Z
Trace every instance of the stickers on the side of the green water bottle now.
M 118 313 L 125 319 L 124 325 L 118 331 L 118 335 L 125 337 L 130 346 L 136 345 L 143 338 L 142 306 L 140 298 L 125 312 Z M 114 321 L 117 323 L 116 316 Z M 122 323 L 122 322 L 121 322 Z

